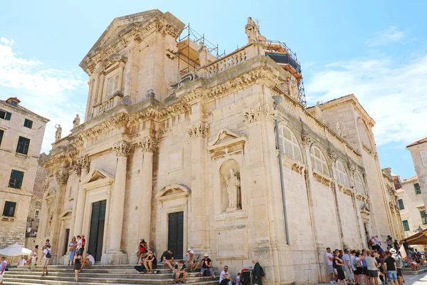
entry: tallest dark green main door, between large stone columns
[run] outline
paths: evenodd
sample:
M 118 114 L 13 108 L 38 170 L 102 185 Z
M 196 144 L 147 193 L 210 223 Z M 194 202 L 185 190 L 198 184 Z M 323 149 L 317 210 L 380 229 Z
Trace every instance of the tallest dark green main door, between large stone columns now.
M 107 200 L 92 203 L 90 216 L 89 244 L 87 251 L 100 261 L 102 256 L 102 242 L 104 240 L 105 208 Z

